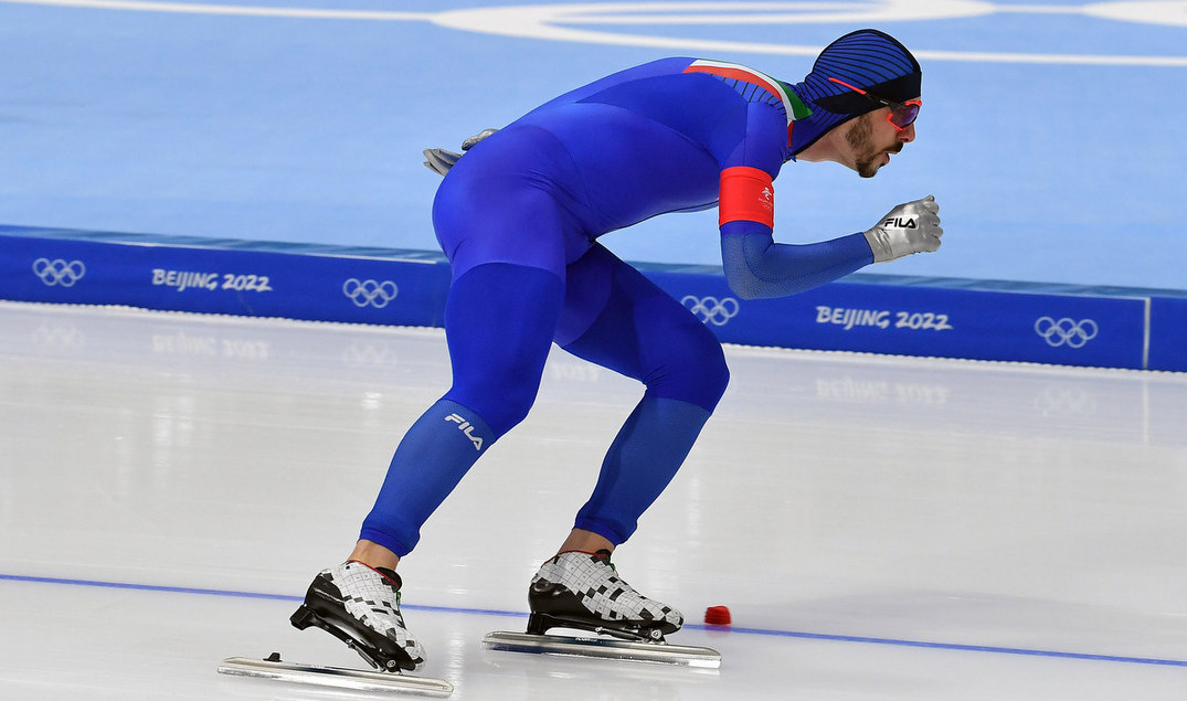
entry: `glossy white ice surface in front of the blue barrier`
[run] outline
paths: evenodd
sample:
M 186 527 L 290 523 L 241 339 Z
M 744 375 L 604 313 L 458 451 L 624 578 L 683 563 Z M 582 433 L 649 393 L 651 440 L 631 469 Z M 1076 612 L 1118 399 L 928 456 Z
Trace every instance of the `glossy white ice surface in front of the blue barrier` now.
M 481 648 L 521 630 L 640 395 L 561 351 L 401 563 L 453 699 L 1182 699 L 1187 376 L 729 348 L 729 393 L 615 555 L 721 670 Z M 0 302 L 0 695 L 354 699 L 287 617 L 449 383 L 437 330 Z M 724 605 L 732 626 L 699 625 Z

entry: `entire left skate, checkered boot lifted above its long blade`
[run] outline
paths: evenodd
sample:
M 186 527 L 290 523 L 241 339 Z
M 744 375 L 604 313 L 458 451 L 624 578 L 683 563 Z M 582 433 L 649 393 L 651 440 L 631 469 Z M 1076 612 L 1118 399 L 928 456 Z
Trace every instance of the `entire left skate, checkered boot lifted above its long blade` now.
M 279 652 L 266 659 L 231 657 L 218 671 L 364 692 L 449 695 L 453 690 L 444 680 L 401 674 L 420 669 L 425 651 L 404 624 L 400 578 L 391 569 L 351 561 L 322 571 L 290 620 L 300 630 L 328 631 L 380 671 L 294 664 L 281 661 Z

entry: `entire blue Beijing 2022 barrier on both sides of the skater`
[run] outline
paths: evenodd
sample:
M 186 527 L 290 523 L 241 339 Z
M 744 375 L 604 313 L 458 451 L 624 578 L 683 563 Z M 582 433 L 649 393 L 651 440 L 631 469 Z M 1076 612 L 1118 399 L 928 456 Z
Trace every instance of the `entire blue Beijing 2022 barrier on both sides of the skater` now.
M 640 263 L 723 342 L 1187 371 L 1187 292 L 855 274 L 740 300 L 721 268 Z M 440 253 L 0 225 L 0 299 L 442 326 Z

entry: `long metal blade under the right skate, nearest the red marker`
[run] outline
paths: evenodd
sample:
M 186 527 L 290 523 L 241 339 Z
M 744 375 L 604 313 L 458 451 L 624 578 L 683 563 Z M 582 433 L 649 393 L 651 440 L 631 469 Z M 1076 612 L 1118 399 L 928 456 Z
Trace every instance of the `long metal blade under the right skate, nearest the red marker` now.
M 508 650 L 512 652 L 662 662 L 702 669 L 717 669 L 722 665 L 722 654 L 717 650 L 673 645 L 671 643 L 631 643 L 611 638 L 571 638 L 565 636 L 496 631 L 487 633 L 482 638 L 482 644 L 491 650 Z

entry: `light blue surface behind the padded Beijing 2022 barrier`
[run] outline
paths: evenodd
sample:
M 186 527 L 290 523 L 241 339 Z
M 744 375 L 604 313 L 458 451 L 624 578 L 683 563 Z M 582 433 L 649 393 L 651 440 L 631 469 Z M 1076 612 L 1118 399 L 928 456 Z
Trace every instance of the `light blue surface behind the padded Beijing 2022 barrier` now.
M 227 4 L 234 4 L 226 0 Z M 317 0 L 240 5 L 330 7 Z M 439 12 L 494 1 L 350 8 Z M 510 0 L 502 2 L 510 5 Z M 919 51 L 1182 56 L 1185 28 L 1087 17 L 1079 0 L 877 23 Z M 862 23 L 864 24 L 869 23 Z M 652 25 L 614 33 L 821 45 L 850 24 Z M 450 30 L 429 21 L 100 11 L 0 4 L 0 223 L 436 249 L 453 146 L 604 72 L 686 53 Z M 37 60 L 30 62 L 28 57 Z M 810 59 L 713 56 L 798 79 Z M 872 181 L 788 164 L 776 235 L 864 230 L 927 193 L 937 255 L 878 273 L 1183 288 L 1176 202 L 1183 68 L 925 59 L 919 139 Z M 636 261 L 716 263 L 712 216 L 607 238 Z M 1116 251 L 1123 251 L 1117 255 Z

